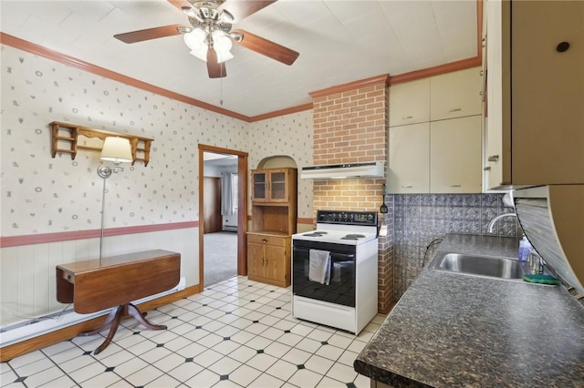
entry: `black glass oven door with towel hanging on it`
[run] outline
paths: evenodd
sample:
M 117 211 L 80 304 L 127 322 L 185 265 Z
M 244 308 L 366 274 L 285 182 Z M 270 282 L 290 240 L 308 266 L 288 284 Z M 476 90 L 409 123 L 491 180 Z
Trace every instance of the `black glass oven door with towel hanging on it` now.
M 328 285 L 308 280 L 310 250 L 330 252 Z M 355 307 L 355 246 L 294 240 L 292 250 L 292 293 L 305 298 Z

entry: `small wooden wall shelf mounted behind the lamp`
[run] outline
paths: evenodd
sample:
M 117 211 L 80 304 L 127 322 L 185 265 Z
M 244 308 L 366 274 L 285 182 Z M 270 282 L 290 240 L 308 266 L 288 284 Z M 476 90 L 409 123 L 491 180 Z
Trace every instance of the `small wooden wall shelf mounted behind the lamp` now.
M 66 153 L 71 155 L 71 160 L 75 160 L 78 149 L 88 149 L 90 151 L 101 151 L 101 147 L 86 146 L 78 144 L 78 137 L 100 138 L 105 140 L 109 137 L 127 138 L 130 140 L 131 157 L 133 166 L 138 160 L 148 166 L 150 161 L 152 138 L 142 138 L 141 136 L 126 135 L 117 132 L 109 132 L 101 129 L 81 127 L 75 124 L 61 123 L 53 121 L 51 124 L 51 156 L 55 158 L 57 153 Z M 59 148 L 65 146 L 65 148 Z

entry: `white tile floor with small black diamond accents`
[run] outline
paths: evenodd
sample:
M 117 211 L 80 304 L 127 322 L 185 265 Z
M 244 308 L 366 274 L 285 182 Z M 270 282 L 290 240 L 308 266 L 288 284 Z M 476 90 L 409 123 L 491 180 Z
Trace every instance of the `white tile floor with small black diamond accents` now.
M 293 318 L 290 299 L 289 288 L 235 277 L 148 312 L 168 330 L 129 319 L 99 355 L 107 331 L 2 362 L 0 385 L 369 388 L 352 364 L 385 317 L 356 337 Z

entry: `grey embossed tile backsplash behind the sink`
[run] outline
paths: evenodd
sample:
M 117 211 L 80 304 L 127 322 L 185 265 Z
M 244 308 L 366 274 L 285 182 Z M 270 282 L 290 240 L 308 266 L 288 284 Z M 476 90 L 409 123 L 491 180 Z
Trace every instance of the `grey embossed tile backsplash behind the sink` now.
M 503 194 L 394 194 L 393 262 L 394 299 L 403 292 L 422 270 L 424 261 L 432 258 L 434 240 L 446 233 L 488 234 L 488 223 L 499 214 L 514 212 L 503 204 Z M 514 217 L 495 223 L 493 234 L 506 237 L 521 235 Z

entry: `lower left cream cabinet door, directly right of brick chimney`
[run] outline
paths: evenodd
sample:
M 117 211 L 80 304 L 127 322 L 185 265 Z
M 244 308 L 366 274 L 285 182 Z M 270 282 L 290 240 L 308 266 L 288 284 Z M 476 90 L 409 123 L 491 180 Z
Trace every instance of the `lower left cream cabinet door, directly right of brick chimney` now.
M 430 123 L 391 127 L 388 191 L 393 194 L 430 191 Z

